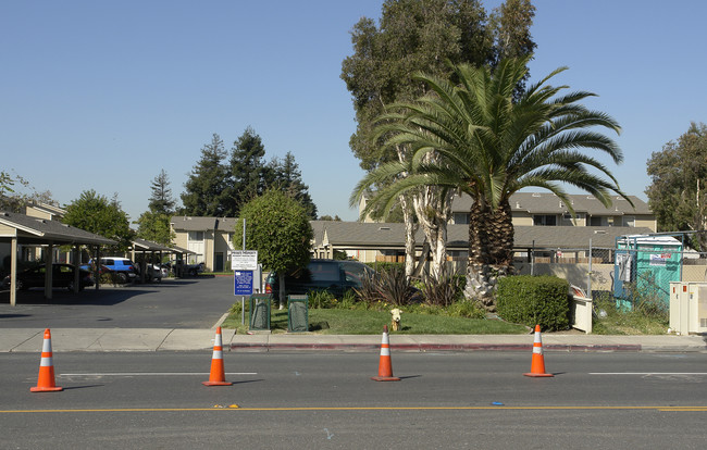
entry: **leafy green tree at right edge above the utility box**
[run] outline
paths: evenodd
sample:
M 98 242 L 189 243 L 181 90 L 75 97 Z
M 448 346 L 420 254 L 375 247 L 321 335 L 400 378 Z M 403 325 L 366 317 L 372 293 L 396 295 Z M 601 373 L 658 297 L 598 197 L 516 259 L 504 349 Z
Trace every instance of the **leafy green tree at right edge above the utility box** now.
M 658 220 L 659 232 L 705 232 L 707 229 L 707 125 L 692 123 L 677 141 L 654 152 L 647 164 L 652 183 L 648 204 Z M 707 233 L 691 239 L 707 251 Z

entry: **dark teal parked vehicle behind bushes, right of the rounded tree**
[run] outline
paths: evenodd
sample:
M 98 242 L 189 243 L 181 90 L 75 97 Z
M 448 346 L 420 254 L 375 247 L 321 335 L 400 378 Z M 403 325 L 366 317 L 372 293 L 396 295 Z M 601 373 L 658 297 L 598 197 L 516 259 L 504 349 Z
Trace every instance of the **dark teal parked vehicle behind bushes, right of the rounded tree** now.
M 360 288 L 365 276 L 375 274 L 358 261 L 311 260 L 307 267 L 285 276 L 285 291 L 302 295 L 313 290 L 326 290 L 340 297 L 349 289 Z M 265 292 L 280 296 L 280 277 L 271 272 L 265 278 Z

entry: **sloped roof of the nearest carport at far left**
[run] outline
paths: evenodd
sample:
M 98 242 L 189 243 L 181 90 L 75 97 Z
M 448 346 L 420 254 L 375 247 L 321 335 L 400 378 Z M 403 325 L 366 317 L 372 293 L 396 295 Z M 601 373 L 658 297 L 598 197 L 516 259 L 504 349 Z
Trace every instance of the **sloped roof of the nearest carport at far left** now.
M 16 237 L 22 243 L 98 245 L 116 242 L 103 236 L 76 228 L 58 221 L 32 217 L 25 214 L 0 212 L 0 238 Z

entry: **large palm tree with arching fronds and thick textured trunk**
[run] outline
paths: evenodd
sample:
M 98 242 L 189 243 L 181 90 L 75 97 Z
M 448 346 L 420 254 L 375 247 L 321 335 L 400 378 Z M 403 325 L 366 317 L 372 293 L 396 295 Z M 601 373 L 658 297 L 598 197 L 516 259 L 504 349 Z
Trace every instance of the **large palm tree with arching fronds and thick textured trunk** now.
M 377 192 L 375 201 L 380 204 L 392 203 L 400 192 L 421 186 L 470 195 L 467 295 L 489 309 L 497 276 L 512 268 L 509 199 L 513 192 L 526 187 L 547 189 L 572 214 L 562 184 L 595 196 L 606 207 L 611 204 L 611 191 L 627 198 L 607 166 L 586 152 L 595 150 L 621 163 L 623 157 L 616 142 L 595 130 L 605 127 L 618 134 L 617 122 L 579 104 L 594 93 L 560 96 L 567 86 L 547 85 L 566 67 L 518 95 L 528 61 L 501 61 L 493 73 L 489 67 L 461 64 L 454 67 L 457 83 L 418 75 L 430 93 L 398 104 L 397 112 L 382 116 L 380 125 L 382 134 L 392 133 L 386 145 L 408 146 L 411 158 L 382 165 L 359 184 L 370 186 L 396 178 Z

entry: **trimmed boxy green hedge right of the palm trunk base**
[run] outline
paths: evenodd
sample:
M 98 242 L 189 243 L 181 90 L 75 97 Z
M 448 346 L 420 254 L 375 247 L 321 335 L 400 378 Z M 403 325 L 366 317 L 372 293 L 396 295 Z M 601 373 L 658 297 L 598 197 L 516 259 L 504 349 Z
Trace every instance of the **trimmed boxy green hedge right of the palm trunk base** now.
M 570 326 L 570 297 L 567 280 L 554 276 L 508 276 L 498 280 L 498 315 L 512 323 L 543 330 Z

